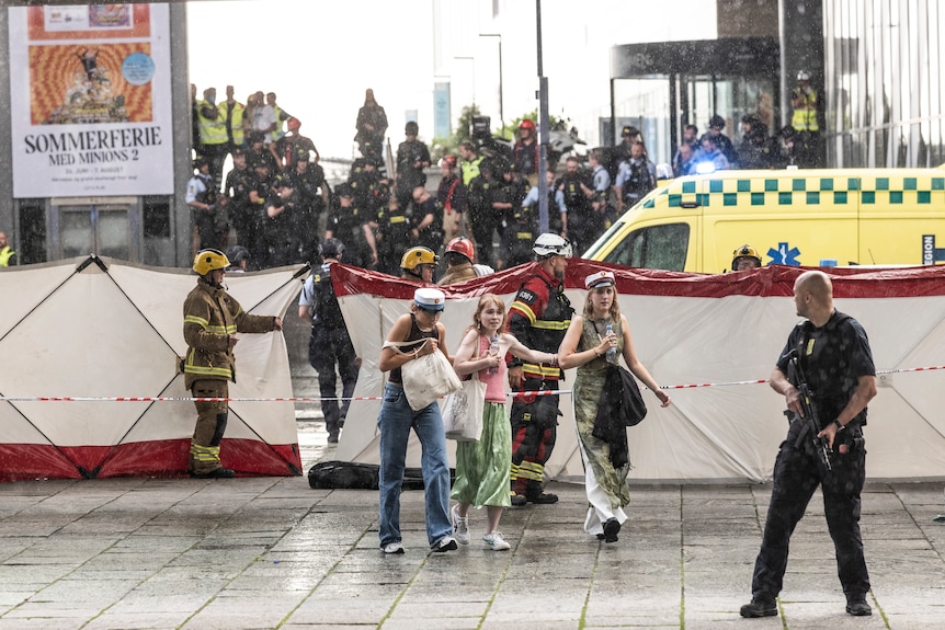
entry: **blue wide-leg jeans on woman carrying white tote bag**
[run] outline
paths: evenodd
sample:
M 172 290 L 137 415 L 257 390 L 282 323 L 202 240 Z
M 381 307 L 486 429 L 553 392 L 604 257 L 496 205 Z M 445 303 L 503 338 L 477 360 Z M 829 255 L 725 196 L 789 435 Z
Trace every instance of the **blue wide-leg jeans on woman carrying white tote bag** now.
M 426 503 L 426 540 L 433 547 L 444 536 L 453 534 L 449 522 L 449 461 L 446 458 L 446 436 L 440 405 L 434 401 L 413 411 L 403 388 L 388 382 L 384 403 L 377 416 L 380 431 L 380 546 L 400 542 L 400 484 L 407 460 L 410 429 L 417 433 L 422 447 L 421 473 Z

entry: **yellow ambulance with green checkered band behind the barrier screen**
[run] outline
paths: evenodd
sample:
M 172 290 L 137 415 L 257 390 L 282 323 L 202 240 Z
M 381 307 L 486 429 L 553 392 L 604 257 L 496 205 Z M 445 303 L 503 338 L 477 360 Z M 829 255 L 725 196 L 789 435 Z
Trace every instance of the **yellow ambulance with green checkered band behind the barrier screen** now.
M 945 262 L 945 169 L 686 175 L 651 191 L 583 257 L 722 273 L 743 244 L 762 254 L 764 265 Z

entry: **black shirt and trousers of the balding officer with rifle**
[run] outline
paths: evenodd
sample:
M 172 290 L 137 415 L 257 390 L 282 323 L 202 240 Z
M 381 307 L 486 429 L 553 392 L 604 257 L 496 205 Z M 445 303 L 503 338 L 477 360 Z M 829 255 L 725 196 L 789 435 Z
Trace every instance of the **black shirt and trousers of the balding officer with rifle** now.
M 866 332 L 855 319 L 834 311 L 822 328 L 805 321 L 792 331 L 777 362 L 788 374 L 788 354 L 797 351 L 799 364 L 813 394 L 821 428 L 834 421 L 850 402 L 859 377 L 875 376 Z M 795 383 L 796 385 L 796 383 Z M 774 602 L 787 568 L 788 541 L 804 516 L 817 486 L 823 493 L 827 525 L 836 551 L 836 568 L 847 602 L 863 599 L 869 591 L 869 574 L 859 535 L 859 493 L 866 473 L 863 426 L 864 409 L 836 434 L 831 471 L 818 465 L 810 432 L 805 423 L 790 424 L 774 465 L 774 485 L 764 526 L 761 551 L 752 576 L 753 598 Z M 847 453 L 841 454 L 840 445 Z

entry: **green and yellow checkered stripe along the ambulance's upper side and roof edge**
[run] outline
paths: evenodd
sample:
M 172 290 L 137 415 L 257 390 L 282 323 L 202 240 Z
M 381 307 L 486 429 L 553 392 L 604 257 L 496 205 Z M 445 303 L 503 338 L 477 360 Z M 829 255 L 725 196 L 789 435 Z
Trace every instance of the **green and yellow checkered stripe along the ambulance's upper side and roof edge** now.
M 696 193 L 696 184 L 708 193 Z M 865 177 L 726 177 L 707 182 L 683 182 L 682 187 L 670 190 L 668 205 L 680 207 L 685 202 L 695 202 L 702 207 L 724 207 L 748 204 L 750 206 L 806 204 L 808 206 L 844 206 L 857 202 L 861 205 L 924 205 L 932 203 L 932 193 L 945 191 L 945 176 L 865 176 Z M 680 194 L 680 192 L 682 194 Z M 653 207 L 656 195 L 645 202 L 644 207 Z M 748 201 L 744 199 L 748 196 Z

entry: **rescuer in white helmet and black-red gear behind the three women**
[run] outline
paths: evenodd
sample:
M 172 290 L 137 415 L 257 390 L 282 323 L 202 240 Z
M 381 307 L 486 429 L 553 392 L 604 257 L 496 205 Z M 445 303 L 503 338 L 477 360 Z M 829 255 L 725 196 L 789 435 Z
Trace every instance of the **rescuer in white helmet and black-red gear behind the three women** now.
M 532 350 L 557 353 L 571 323 L 574 309 L 565 295 L 565 271 L 571 243 L 553 233 L 540 234 L 532 248 L 538 267 L 509 307 L 509 332 Z M 513 391 L 558 389 L 561 369 L 557 364 L 535 364 L 519 359 L 509 364 Z M 543 492 L 545 463 L 555 448 L 558 426 L 558 396 L 515 397 L 512 401 L 512 505 L 557 503 L 555 494 Z

